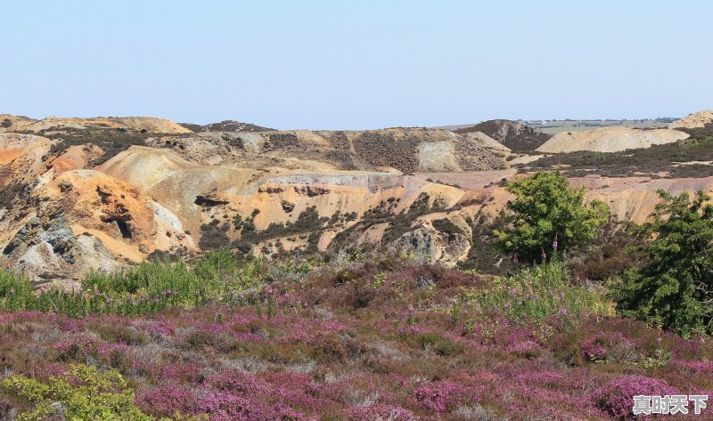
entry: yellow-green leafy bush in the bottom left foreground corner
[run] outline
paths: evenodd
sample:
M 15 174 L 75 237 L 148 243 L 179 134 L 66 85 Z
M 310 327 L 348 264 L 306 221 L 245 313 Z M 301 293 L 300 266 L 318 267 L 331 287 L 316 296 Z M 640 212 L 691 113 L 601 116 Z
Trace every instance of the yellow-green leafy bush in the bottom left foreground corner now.
M 46 383 L 25 376 L 3 381 L 5 390 L 34 407 L 21 413 L 18 421 L 40 421 L 52 416 L 62 419 L 105 419 L 151 421 L 134 404 L 134 391 L 114 370 L 100 372 L 85 365 L 72 365 L 62 376 Z

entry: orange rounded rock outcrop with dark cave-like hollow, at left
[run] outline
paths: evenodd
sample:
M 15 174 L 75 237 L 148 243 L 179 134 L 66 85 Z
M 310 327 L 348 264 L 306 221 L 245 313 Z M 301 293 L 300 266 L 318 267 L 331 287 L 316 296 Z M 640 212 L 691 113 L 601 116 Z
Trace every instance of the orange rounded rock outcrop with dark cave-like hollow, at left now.
M 34 279 L 75 279 L 90 269 L 140 262 L 159 243 L 162 221 L 150 199 L 106 174 L 67 171 L 38 184 L 31 198 L 33 214 L 2 245 L 0 262 Z M 6 214 L 0 223 L 10 220 Z M 176 231 L 165 231 L 174 239 L 162 247 L 186 242 Z

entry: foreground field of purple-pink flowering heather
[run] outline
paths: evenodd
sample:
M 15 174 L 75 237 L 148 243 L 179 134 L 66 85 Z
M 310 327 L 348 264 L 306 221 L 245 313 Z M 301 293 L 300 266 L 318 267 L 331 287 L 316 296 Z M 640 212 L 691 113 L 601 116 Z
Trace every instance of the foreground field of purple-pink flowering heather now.
M 615 318 L 552 266 L 506 281 L 385 259 L 132 316 L 2 312 L 0 419 L 91 383 L 82 368 L 123 379 L 131 419 L 627 419 L 635 394 L 713 395 L 709 340 Z

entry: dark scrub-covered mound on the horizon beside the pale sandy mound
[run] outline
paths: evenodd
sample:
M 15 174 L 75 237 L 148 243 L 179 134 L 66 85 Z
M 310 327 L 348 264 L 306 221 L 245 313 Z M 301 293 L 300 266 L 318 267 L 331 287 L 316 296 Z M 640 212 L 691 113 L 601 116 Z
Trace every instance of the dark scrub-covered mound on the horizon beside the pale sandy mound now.
M 512 120 L 488 120 L 478 125 L 454 130 L 457 134 L 473 132 L 487 134 L 510 150 L 518 152 L 536 150 L 551 137 L 550 134 L 545 134 L 535 127 Z

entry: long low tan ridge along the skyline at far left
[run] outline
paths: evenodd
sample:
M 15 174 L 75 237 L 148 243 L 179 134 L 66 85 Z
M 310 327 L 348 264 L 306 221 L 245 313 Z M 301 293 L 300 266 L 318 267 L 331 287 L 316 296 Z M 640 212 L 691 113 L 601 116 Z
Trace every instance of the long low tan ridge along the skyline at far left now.
M 42 132 L 47 130 L 58 129 L 123 129 L 134 130 L 146 133 L 158 134 L 184 134 L 191 133 L 191 130 L 182 125 L 164 119 L 155 117 L 93 117 L 93 118 L 76 118 L 76 117 L 45 117 L 41 120 L 32 120 L 27 117 L 3 117 L 0 119 L 0 125 L 3 122 L 9 121 L 10 124 L 4 123 L 4 131 L 12 132 Z M 11 116 L 12 117 L 12 116 Z

